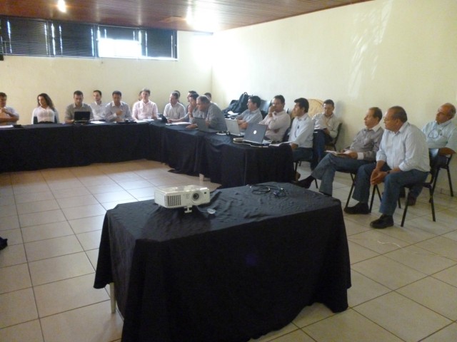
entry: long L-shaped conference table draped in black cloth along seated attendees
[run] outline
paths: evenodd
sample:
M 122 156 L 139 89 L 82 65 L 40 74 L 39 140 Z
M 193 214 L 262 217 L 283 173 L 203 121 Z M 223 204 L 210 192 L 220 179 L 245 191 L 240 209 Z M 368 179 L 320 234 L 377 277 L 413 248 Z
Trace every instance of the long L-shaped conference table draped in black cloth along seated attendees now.
M 0 145 L 0 172 L 148 159 L 175 172 L 204 175 L 221 187 L 289 182 L 294 177 L 288 146 L 236 144 L 228 135 L 159 121 L 1 128 Z

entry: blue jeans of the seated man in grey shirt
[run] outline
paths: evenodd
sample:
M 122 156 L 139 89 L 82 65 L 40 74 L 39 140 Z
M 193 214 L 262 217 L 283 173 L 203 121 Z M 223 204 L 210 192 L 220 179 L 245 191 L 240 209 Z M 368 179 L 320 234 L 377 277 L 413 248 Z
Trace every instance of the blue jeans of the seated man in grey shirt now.
M 311 173 L 311 176 L 321 180 L 319 191 L 326 195 L 333 195 L 333 178 L 336 171 L 348 171 L 357 173 L 358 167 L 373 163 L 367 160 L 356 160 L 349 157 L 337 157 L 328 153 L 323 160 L 318 163 Z

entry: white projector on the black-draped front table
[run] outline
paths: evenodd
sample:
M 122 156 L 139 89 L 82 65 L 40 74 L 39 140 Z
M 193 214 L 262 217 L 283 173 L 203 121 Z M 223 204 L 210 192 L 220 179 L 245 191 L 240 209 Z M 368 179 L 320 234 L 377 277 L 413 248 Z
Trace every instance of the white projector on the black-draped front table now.
M 154 191 L 156 204 L 166 208 L 186 208 L 191 212 L 193 205 L 209 203 L 209 189 L 199 185 L 184 185 L 181 187 L 166 187 Z

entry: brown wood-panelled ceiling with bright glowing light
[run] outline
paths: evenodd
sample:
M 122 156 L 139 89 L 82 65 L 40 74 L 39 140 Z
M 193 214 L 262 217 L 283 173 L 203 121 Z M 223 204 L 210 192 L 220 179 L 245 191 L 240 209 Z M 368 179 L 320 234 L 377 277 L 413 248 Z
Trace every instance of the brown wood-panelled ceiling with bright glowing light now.
M 61 0 L 63 1 L 63 0 Z M 90 24 L 224 31 L 368 0 L 2 0 L 1 16 Z

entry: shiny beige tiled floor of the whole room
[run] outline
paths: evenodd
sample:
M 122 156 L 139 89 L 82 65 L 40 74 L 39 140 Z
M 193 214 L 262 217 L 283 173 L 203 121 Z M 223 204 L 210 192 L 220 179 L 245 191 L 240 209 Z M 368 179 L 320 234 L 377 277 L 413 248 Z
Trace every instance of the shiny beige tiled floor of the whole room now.
M 92 287 L 104 213 L 150 199 L 156 187 L 199 184 L 168 170 L 137 160 L 0 174 L 0 236 L 9 242 L 0 252 L 0 341 L 120 341 L 109 291 Z M 333 195 L 343 203 L 349 185 L 336 175 Z M 349 309 L 308 306 L 256 341 L 457 341 L 457 198 L 435 202 L 437 222 L 423 193 L 403 228 L 403 209 L 395 227 L 369 227 L 377 200 L 373 214 L 345 216 Z

